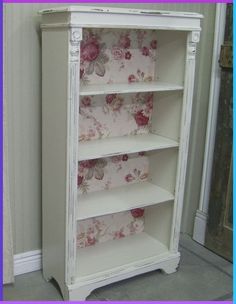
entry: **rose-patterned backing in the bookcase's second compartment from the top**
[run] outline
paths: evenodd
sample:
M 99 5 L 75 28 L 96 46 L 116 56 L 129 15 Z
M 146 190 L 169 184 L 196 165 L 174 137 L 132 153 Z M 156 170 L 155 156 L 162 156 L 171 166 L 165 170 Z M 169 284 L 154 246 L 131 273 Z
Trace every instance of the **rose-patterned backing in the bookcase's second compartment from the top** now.
M 152 111 L 153 93 L 82 97 L 79 140 L 148 133 Z

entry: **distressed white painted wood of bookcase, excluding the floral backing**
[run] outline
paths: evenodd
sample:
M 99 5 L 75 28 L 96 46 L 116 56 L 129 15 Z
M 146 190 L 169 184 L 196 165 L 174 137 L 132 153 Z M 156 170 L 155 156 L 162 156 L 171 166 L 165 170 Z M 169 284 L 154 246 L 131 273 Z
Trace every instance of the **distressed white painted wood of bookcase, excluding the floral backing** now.
M 175 272 L 202 16 L 77 6 L 41 14 L 45 278 L 57 280 L 65 299 L 84 300 L 141 273 Z M 80 41 L 88 27 L 156 30 L 158 81 L 80 87 Z M 149 91 L 155 92 L 152 133 L 78 143 L 79 96 Z M 150 163 L 147 182 L 78 195 L 78 161 L 142 151 Z M 76 249 L 77 221 L 137 207 L 146 207 L 143 232 Z

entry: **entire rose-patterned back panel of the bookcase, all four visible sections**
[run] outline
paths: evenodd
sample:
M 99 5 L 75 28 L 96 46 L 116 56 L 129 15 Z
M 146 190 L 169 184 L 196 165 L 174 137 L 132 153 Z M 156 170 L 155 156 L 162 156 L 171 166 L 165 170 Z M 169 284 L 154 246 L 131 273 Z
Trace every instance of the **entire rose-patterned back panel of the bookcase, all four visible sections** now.
M 157 40 L 151 30 L 87 29 L 81 43 L 82 84 L 131 83 L 155 79 Z M 79 140 L 148 133 L 153 93 L 84 96 L 80 99 Z M 149 161 L 144 153 L 79 162 L 78 191 L 109 190 L 146 181 Z M 140 233 L 144 209 L 79 221 L 79 248 Z

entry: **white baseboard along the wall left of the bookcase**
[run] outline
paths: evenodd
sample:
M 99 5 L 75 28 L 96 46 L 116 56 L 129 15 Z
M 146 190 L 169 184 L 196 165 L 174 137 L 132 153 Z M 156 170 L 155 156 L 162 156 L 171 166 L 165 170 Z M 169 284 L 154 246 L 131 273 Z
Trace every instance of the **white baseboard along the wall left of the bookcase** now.
M 14 255 L 14 275 L 40 270 L 42 268 L 41 250 L 27 251 Z

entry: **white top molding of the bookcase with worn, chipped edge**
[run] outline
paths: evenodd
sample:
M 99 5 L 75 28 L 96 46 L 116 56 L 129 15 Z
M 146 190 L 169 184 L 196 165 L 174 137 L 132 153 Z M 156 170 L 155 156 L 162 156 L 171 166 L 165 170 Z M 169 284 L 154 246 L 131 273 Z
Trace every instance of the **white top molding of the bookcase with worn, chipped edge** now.
M 147 9 L 67 6 L 39 11 L 41 27 L 110 27 L 200 31 L 203 15 Z M 127 18 L 127 15 L 129 17 Z

